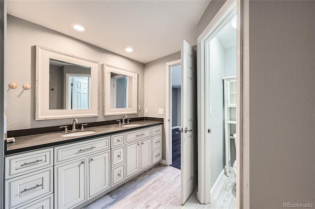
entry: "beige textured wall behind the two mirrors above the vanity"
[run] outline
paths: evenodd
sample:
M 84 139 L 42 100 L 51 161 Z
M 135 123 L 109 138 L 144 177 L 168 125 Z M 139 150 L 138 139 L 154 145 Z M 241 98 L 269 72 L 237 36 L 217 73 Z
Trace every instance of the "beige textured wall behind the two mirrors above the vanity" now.
M 7 19 L 7 80 L 20 84 L 17 89 L 9 89 L 7 115 L 7 129 L 26 129 L 36 127 L 58 126 L 71 124 L 73 119 L 58 119 L 35 121 L 35 45 L 42 45 L 61 52 L 99 61 L 138 73 L 138 103 L 141 110 L 131 117 L 143 117 L 144 107 L 144 64 L 109 52 L 62 33 L 38 26 L 33 23 L 8 15 Z M 165 63 L 164 63 L 165 65 Z M 102 76 L 100 82 L 102 82 Z M 30 82 L 31 90 L 23 90 L 23 83 Z M 102 107 L 102 85 L 99 84 L 99 102 Z M 98 111 L 98 117 L 79 118 L 79 123 L 121 119 L 122 115 L 102 116 L 103 109 Z M 16 120 L 23 118 L 23 120 Z

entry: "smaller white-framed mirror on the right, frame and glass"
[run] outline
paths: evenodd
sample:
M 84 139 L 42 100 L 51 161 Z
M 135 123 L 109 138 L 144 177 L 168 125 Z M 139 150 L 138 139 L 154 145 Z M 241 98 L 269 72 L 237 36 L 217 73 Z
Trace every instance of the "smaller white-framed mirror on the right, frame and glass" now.
M 138 74 L 103 64 L 104 115 L 138 113 Z

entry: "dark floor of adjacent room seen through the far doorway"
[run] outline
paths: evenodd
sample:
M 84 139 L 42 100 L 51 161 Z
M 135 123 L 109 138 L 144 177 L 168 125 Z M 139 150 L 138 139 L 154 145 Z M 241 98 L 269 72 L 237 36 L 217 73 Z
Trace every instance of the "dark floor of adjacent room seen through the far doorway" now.
M 181 169 L 181 131 L 172 129 L 172 164 L 171 166 Z

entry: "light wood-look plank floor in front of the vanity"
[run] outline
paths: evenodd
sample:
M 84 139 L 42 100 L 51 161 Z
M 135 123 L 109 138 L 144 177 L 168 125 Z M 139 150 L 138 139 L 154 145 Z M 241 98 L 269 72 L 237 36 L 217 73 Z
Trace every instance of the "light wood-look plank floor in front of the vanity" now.
M 158 164 L 84 209 L 236 209 L 232 182 L 232 175 L 223 178 L 218 191 L 214 192 L 212 204 L 199 204 L 194 191 L 182 206 L 181 171 Z

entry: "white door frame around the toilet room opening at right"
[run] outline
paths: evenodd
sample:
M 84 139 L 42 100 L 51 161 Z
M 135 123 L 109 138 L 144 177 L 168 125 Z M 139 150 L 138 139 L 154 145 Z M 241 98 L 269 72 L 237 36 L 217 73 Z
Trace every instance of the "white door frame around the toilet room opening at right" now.
M 197 198 L 200 203 L 208 204 L 210 198 L 210 150 L 206 149 L 210 145 L 207 132 L 208 127 L 206 122 L 206 40 L 213 32 L 221 25 L 225 18 L 236 9 L 237 14 L 237 69 L 236 69 L 236 82 L 237 82 L 237 108 L 236 108 L 236 132 L 238 133 L 237 140 L 237 173 L 236 173 L 236 205 L 237 208 L 243 207 L 243 0 L 226 1 L 216 16 L 212 19 L 205 30 L 200 34 L 197 39 L 197 101 L 198 101 L 198 193 Z M 207 178 L 206 178 L 207 177 Z

